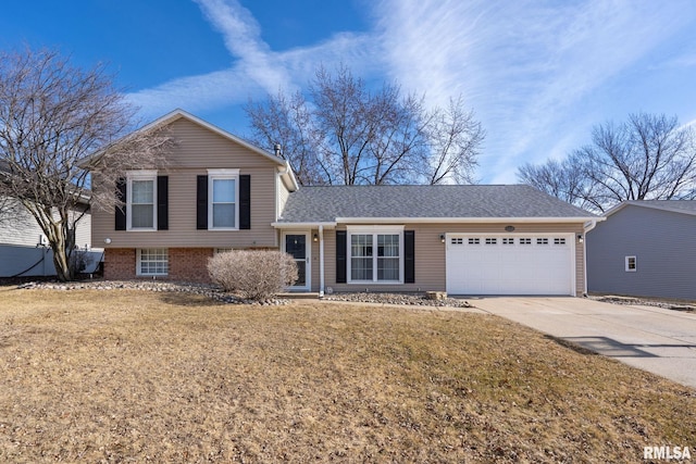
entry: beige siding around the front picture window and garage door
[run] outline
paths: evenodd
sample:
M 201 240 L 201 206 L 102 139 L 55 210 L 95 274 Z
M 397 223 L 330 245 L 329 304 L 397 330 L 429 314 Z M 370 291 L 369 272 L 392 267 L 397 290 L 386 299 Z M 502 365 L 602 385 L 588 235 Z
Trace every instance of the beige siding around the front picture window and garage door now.
M 514 234 L 582 234 L 582 224 L 406 224 L 405 230 L 415 231 L 415 284 L 403 285 L 368 285 L 336 284 L 336 234 L 334 230 L 324 231 L 324 251 L 326 256 L 325 277 L 326 287 L 334 291 L 444 291 L 445 276 L 445 243 L 439 239 L 440 234 L 481 233 L 502 234 L 508 225 L 514 226 Z M 339 226 L 338 229 L 345 229 Z M 584 292 L 583 276 L 583 244 L 575 241 L 575 289 L 576 293 Z M 316 248 L 319 250 L 319 248 Z M 319 251 L 318 251 L 319 252 Z M 312 273 L 313 274 L 313 273 Z M 319 279 L 319 277 L 318 277 Z M 312 289 L 319 290 L 319 280 L 312 280 Z

